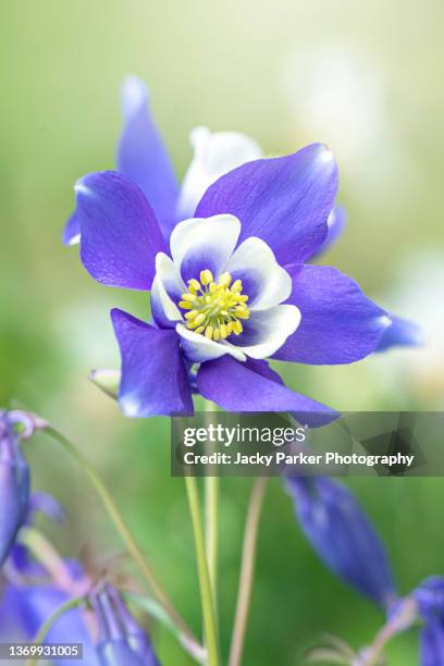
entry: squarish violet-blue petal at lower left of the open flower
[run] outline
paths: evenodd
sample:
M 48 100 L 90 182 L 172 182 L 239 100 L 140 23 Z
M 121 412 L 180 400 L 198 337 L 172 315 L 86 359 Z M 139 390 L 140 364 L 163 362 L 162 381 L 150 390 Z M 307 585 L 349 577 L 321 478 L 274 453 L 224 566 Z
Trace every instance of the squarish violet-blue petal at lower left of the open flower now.
M 114 309 L 122 356 L 119 404 L 128 417 L 190 416 L 192 390 L 175 331 L 155 329 Z

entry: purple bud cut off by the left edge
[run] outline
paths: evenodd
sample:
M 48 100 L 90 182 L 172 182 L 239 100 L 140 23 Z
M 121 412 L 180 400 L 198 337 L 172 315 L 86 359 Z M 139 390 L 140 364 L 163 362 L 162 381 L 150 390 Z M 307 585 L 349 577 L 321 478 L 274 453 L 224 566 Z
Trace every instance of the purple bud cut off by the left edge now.
M 29 468 L 8 412 L 0 411 L 0 566 L 26 520 Z

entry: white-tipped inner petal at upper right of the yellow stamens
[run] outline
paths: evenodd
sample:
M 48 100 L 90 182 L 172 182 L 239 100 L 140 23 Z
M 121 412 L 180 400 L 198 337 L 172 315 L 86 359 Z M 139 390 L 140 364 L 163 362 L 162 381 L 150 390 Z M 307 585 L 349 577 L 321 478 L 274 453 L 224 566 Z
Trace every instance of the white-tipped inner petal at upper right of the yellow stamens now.
M 245 294 L 249 295 L 248 308 L 251 311 L 266 310 L 286 300 L 292 293 L 292 279 L 276 261 L 271 248 L 251 236 L 239 245 L 225 270 L 234 278 L 242 273 L 251 276 L 255 283 L 255 294 L 248 294 L 248 283 L 244 284 Z

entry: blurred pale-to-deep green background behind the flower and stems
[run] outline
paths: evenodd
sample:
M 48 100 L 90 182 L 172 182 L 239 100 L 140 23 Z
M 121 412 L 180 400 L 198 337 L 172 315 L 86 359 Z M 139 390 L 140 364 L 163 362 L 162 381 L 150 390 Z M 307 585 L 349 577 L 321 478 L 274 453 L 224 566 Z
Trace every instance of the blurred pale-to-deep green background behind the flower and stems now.
M 0 12 L 0 404 L 17 398 L 75 439 L 198 631 L 192 532 L 183 482 L 170 478 L 168 420 L 126 420 L 87 380 L 91 368 L 119 365 L 109 309 L 146 317 L 148 303 L 96 285 L 77 249 L 61 245 L 72 185 L 114 164 L 127 73 L 148 83 L 180 175 L 199 124 L 243 131 L 272 155 L 326 141 L 349 221 L 323 261 L 399 314 L 421 317 L 428 345 L 349 367 L 281 369 L 292 387 L 338 409 L 441 409 L 444 4 L 16 0 Z M 118 557 L 122 543 L 82 472 L 42 436 L 27 451 L 35 488 L 66 507 L 65 528 L 45 526 L 62 553 Z M 402 592 L 444 574 L 444 480 L 349 485 L 387 544 Z M 222 483 L 224 655 L 249 486 L 247 479 Z M 130 563 L 124 569 L 136 575 Z M 245 665 L 303 664 L 304 649 L 323 631 L 359 646 L 381 622 L 313 556 L 273 480 Z M 163 664 L 189 663 L 161 627 L 151 630 Z M 390 655 L 395 666 L 416 664 L 415 632 Z

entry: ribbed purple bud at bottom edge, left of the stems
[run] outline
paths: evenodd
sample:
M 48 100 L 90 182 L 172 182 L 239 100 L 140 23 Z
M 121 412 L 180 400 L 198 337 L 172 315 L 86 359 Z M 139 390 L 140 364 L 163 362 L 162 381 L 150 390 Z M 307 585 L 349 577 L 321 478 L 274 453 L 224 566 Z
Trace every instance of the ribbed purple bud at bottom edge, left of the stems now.
M 99 622 L 97 653 L 101 666 L 159 666 L 147 633 L 111 585 L 91 595 Z

